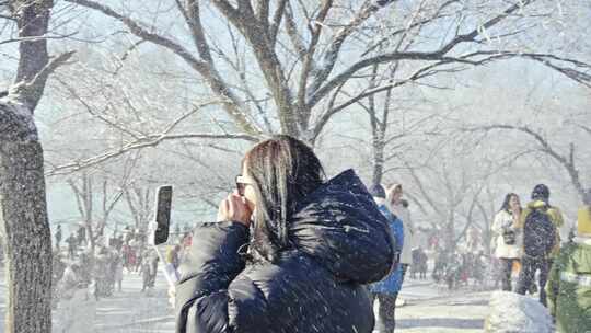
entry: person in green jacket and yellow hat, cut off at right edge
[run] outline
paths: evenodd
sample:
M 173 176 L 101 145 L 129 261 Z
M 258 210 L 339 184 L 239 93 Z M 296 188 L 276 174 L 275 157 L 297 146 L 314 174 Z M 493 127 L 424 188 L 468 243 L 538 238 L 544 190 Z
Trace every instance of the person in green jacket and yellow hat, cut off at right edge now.
M 558 332 L 591 332 L 591 190 L 579 209 L 577 237 L 560 249 L 546 289 Z

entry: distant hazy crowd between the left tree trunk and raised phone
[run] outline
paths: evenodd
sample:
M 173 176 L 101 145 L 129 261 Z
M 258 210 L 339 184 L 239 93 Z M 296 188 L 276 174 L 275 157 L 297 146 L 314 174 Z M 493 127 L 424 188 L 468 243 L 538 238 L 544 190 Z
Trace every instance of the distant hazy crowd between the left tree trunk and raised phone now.
M 141 292 L 151 292 L 160 256 L 147 244 L 146 232 L 126 227 L 123 233 L 115 234 L 106 243 L 102 237 L 97 237 L 94 240 L 94 252 L 84 227 L 81 226 L 66 239 L 66 248 L 60 244 L 61 232 L 61 226 L 58 226 L 53 256 L 55 306 L 60 299 L 69 299 L 68 296 L 73 294 L 72 288 L 89 288 L 89 292 L 96 300 L 121 292 L 124 272 L 140 275 Z M 164 256 L 166 263 L 178 267 L 183 251 L 190 245 L 192 237 L 188 227 L 185 227 L 183 233 L 176 230 L 172 234 L 173 244 L 167 248 Z

